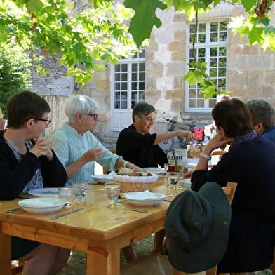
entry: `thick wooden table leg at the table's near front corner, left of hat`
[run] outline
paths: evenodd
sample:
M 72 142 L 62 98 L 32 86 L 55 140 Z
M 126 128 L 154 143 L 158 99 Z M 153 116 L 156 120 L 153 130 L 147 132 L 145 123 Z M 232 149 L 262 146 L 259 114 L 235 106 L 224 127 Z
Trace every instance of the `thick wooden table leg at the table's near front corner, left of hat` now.
M 87 275 L 120 274 L 120 240 L 119 237 L 93 246 L 90 241 L 87 252 Z

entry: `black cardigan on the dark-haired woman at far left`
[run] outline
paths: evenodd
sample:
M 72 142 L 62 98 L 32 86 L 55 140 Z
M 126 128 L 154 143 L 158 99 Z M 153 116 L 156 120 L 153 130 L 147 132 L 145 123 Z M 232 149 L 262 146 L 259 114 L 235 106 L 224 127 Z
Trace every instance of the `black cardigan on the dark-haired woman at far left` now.
M 41 169 L 44 187 L 60 187 L 67 182 L 67 173 L 54 154 L 48 161 L 45 156 L 37 158 L 27 152 L 18 163 L 10 147 L 6 144 L 4 130 L 0 131 L 0 199 L 12 200 L 21 194 L 37 169 Z

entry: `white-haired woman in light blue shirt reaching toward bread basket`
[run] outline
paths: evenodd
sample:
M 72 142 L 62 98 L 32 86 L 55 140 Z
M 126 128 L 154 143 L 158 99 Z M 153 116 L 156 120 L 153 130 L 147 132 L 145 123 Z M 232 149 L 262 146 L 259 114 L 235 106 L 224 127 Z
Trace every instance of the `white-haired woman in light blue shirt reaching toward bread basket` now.
M 94 175 L 95 161 L 109 171 L 120 167 L 142 171 L 110 152 L 91 133 L 98 124 L 99 113 L 98 102 L 87 95 L 72 95 L 66 102 L 65 114 L 69 122 L 63 123 L 50 138 L 58 159 L 67 171 L 66 185 L 76 181 L 92 182 L 90 175 Z

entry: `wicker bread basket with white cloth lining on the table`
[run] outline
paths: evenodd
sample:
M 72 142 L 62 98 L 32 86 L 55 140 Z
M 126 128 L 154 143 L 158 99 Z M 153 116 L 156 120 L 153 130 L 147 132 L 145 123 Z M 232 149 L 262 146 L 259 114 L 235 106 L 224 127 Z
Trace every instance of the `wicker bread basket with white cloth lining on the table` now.
M 158 175 L 153 174 L 149 177 L 135 177 L 128 175 L 113 175 L 113 179 L 121 185 L 121 192 L 143 192 L 149 190 L 152 184 L 159 178 Z

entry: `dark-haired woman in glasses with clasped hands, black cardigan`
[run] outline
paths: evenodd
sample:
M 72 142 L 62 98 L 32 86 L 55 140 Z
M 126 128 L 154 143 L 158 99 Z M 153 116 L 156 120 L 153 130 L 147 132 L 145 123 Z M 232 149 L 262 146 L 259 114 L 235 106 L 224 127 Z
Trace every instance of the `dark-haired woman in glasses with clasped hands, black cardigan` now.
M 67 174 L 39 135 L 51 120 L 46 100 L 29 91 L 11 95 L 7 105 L 8 129 L 0 131 L 0 199 L 13 200 L 31 189 L 65 185 Z M 12 260 L 26 261 L 24 274 L 58 274 L 70 250 L 11 237 Z

